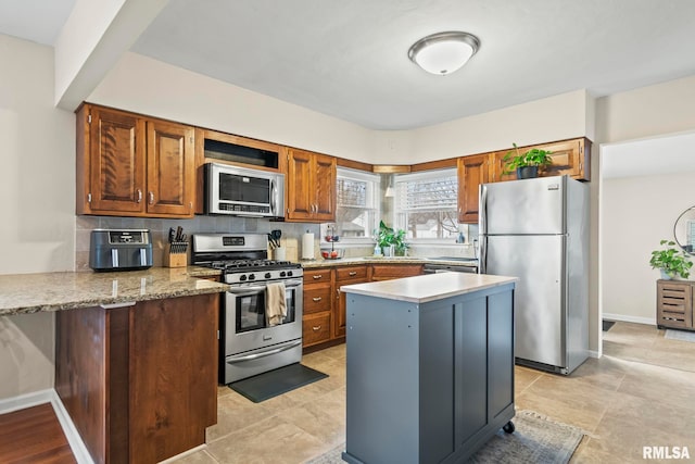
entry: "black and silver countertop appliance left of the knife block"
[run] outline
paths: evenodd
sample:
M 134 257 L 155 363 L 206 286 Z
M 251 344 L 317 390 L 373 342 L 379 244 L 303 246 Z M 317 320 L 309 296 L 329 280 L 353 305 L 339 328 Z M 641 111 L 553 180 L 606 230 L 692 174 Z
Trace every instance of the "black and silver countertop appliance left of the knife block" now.
M 93 229 L 89 267 L 94 271 L 134 271 L 152 267 L 149 229 Z

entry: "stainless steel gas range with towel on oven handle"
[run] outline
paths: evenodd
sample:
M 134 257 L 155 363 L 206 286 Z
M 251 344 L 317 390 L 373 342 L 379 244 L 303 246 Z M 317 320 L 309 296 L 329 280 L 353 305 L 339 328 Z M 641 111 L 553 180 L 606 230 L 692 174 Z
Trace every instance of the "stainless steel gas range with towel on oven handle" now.
M 267 259 L 262 234 L 197 234 L 191 261 L 218 268 L 231 288 L 220 311 L 219 381 L 230 384 L 302 360 L 302 267 Z M 278 286 L 279 285 L 279 286 Z M 268 290 L 285 290 L 285 315 Z M 273 325 L 275 324 L 275 325 Z

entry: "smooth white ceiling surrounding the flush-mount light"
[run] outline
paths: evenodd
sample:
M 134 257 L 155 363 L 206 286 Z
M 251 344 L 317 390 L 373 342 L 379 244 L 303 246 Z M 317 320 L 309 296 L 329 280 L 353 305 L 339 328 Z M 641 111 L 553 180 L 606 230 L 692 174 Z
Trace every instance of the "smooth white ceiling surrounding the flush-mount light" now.
M 0 0 L 0 33 L 53 43 L 75 0 Z M 47 13 L 50 9 L 50 13 Z M 131 51 L 372 129 L 695 74 L 691 0 L 169 0 Z M 480 38 L 448 76 L 417 39 Z

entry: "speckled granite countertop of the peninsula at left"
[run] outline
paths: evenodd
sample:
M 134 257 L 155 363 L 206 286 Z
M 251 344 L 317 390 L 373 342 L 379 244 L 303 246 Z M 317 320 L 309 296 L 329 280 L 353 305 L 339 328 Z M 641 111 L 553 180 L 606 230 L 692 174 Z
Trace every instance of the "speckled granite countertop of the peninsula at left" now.
M 195 276 L 202 267 L 151 267 L 111 273 L 64 272 L 0 275 L 0 315 L 73 310 L 132 301 L 218 293 L 229 286 Z

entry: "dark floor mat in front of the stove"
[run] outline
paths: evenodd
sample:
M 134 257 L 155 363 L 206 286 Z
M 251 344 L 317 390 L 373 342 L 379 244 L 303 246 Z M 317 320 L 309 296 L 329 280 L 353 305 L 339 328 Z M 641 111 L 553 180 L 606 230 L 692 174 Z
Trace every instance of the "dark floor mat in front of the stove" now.
M 229 384 L 229 388 L 243 394 L 254 403 L 260 403 L 326 377 L 328 377 L 328 374 L 294 363 L 235 381 Z

